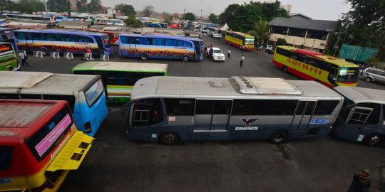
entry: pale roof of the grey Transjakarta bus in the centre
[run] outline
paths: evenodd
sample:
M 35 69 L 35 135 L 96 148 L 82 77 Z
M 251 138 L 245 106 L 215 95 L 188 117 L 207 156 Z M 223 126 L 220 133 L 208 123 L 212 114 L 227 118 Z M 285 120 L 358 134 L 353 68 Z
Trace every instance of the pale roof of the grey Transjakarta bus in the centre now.
M 242 83 L 246 79 L 249 83 Z M 269 80 L 270 79 L 270 80 Z M 267 82 L 266 82 L 267 81 Z M 256 85 L 257 84 L 257 85 Z M 251 85 L 251 88 L 248 86 Z M 250 87 L 250 86 L 249 86 Z M 303 98 L 341 100 L 342 96 L 314 81 L 279 78 L 192 78 L 155 76 L 135 83 L 130 99 L 148 97 L 173 98 Z

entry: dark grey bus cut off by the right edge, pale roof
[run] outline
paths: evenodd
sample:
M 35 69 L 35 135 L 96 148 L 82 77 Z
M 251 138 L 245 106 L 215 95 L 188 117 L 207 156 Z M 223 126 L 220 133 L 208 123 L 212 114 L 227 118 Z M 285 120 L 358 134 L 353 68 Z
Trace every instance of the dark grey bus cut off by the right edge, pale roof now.
M 334 87 L 334 90 L 344 96 L 344 105 L 332 135 L 368 146 L 385 144 L 385 90 L 363 87 Z

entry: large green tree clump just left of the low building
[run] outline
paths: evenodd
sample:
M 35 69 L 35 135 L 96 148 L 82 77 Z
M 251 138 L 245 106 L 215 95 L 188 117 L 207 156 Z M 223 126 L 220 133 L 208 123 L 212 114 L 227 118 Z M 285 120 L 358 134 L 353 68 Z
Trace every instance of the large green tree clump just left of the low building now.
M 271 21 L 275 17 L 289 17 L 287 11 L 279 8 L 279 5 L 279 1 L 274 3 L 250 1 L 250 4 L 231 4 L 220 14 L 219 23 L 227 23 L 232 31 L 251 31 L 254 23 L 260 20 Z

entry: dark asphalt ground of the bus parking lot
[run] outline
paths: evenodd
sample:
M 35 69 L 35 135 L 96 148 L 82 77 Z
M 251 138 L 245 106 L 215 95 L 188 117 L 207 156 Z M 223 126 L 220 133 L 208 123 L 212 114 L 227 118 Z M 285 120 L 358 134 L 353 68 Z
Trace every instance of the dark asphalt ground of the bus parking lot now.
M 223 39 L 204 37 L 206 46 L 222 49 L 224 62 L 146 60 L 167 63 L 168 75 L 198 77 L 252 76 L 299 80 L 272 64 L 272 55 L 228 46 Z M 117 47 L 111 61 L 120 58 Z M 239 62 L 245 55 L 245 63 Z M 29 58 L 25 71 L 71 73 L 85 61 Z M 385 90 L 385 85 L 359 80 L 358 86 Z M 96 142 L 59 191 L 347 191 L 355 171 L 371 171 L 371 191 L 385 190 L 384 146 L 368 147 L 333 137 L 269 142 L 187 142 L 177 146 L 130 142 L 125 119 L 111 110 L 95 135 Z

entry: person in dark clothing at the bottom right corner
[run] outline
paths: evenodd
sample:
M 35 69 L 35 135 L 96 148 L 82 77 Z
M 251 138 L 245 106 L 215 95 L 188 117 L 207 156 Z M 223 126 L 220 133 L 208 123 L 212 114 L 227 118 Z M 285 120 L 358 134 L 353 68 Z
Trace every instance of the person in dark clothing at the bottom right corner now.
M 368 169 L 355 173 L 347 192 L 369 192 L 371 183 L 369 174 L 370 172 Z

